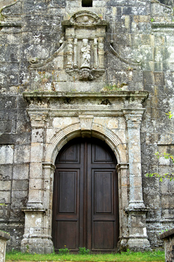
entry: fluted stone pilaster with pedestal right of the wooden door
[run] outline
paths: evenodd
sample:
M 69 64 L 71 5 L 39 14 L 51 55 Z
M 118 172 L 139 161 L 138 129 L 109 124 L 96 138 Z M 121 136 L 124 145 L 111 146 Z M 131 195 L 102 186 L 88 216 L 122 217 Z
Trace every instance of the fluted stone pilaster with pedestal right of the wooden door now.
M 125 208 L 128 215 L 128 246 L 134 251 L 150 248 L 146 233 L 146 212 L 142 195 L 140 126 L 143 108 L 126 108 L 123 110 L 127 123 L 129 155 L 129 205 Z

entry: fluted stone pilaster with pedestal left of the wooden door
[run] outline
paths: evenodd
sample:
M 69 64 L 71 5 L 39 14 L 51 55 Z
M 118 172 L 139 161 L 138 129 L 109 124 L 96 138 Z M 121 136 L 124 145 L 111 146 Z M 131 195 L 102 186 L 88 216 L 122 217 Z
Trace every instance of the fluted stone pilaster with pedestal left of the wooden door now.
M 45 204 L 43 196 L 43 184 L 46 185 L 46 181 L 42 167 L 47 112 L 45 110 L 37 117 L 33 115 L 32 109 L 29 109 L 28 113 L 32 126 L 30 179 L 27 206 L 22 209 L 25 212 L 25 230 L 21 242 L 21 251 L 50 253 L 53 251 L 53 244 L 50 240 L 50 233 L 48 234 L 48 230 L 45 232 L 44 228 L 49 212 L 46 209 L 47 203 Z M 47 177 L 46 175 L 46 179 Z

